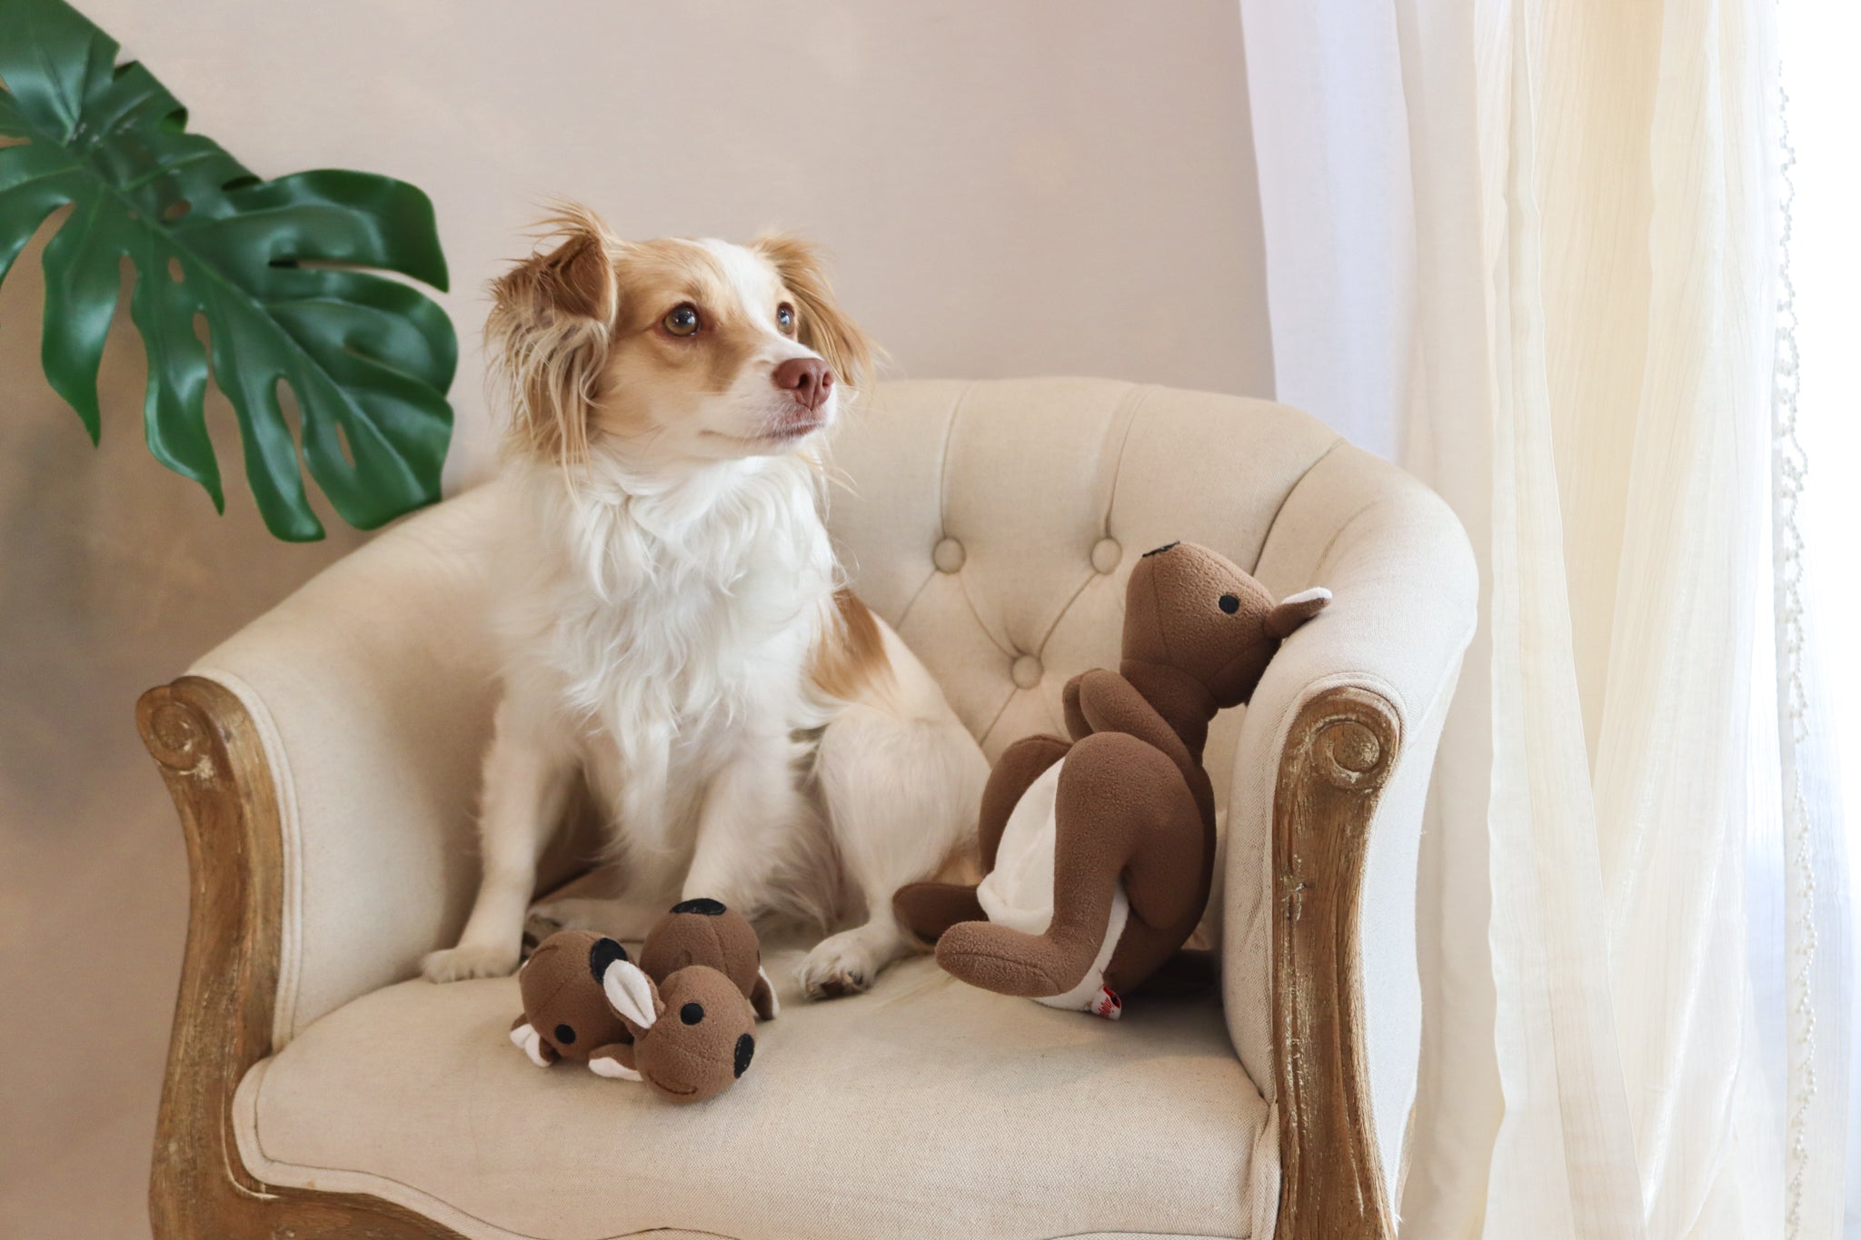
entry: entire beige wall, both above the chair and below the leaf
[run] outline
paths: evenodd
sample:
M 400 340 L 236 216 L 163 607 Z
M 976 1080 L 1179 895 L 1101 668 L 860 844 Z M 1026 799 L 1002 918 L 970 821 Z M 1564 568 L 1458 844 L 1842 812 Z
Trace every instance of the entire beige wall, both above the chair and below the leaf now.
M 1232 0 L 80 7 L 255 171 L 434 195 L 454 478 L 486 459 L 478 290 L 549 193 L 629 234 L 811 232 L 903 374 L 1271 390 Z M 272 543 L 231 441 L 225 519 L 156 467 L 127 322 L 91 450 L 41 296 L 33 245 L 0 290 L 0 1234 L 91 1240 L 145 1229 L 186 911 L 134 697 L 359 539 Z

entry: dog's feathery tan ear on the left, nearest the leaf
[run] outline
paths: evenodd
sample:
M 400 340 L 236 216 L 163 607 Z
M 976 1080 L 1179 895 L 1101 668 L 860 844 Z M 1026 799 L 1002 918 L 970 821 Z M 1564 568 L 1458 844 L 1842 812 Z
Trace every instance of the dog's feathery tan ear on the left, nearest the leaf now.
M 547 459 L 588 455 L 588 424 L 620 312 L 620 242 L 599 216 L 566 204 L 536 253 L 491 284 L 486 355 L 510 389 L 515 431 Z

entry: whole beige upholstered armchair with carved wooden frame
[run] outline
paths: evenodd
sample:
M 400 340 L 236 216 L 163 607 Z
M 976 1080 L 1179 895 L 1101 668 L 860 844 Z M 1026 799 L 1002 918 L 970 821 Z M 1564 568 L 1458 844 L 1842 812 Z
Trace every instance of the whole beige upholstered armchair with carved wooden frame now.
M 194 866 L 158 1234 L 1394 1234 L 1422 799 L 1474 625 L 1453 517 L 1292 409 L 1100 379 L 890 385 L 836 463 L 856 587 L 990 757 L 1115 662 L 1154 545 L 1336 593 L 1210 736 L 1219 998 L 1094 1021 L 917 957 L 791 991 L 700 1108 L 534 1069 L 512 980 L 415 980 L 475 885 L 499 522 L 469 493 L 141 701 Z

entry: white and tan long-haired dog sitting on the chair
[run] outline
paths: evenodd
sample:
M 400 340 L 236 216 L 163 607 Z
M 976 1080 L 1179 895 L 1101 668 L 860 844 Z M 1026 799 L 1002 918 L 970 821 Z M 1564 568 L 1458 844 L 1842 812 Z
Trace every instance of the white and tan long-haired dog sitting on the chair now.
M 616 900 L 536 909 L 636 939 L 674 900 L 856 922 L 800 963 L 867 989 L 914 939 L 891 892 L 973 846 L 988 766 L 930 673 L 843 584 L 826 439 L 873 370 L 817 251 L 765 234 L 622 242 L 545 221 L 491 286 L 512 420 L 499 478 L 502 695 L 482 877 L 434 982 L 517 965 L 538 859 L 577 781 Z M 860 920 L 864 918 L 864 920 Z

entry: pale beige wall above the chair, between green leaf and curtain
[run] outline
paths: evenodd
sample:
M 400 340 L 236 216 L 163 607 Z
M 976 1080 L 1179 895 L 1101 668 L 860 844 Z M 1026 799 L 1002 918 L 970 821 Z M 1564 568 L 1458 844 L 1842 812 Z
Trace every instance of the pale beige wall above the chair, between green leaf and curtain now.
M 625 236 L 800 229 L 910 376 L 1271 394 L 1232 0 L 89 0 L 261 175 L 439 208 L 484 459 L 482 286 L 547 195 Z

